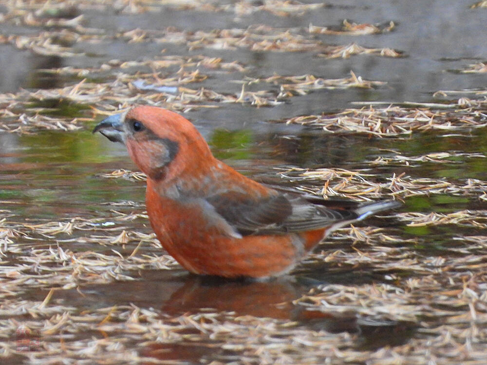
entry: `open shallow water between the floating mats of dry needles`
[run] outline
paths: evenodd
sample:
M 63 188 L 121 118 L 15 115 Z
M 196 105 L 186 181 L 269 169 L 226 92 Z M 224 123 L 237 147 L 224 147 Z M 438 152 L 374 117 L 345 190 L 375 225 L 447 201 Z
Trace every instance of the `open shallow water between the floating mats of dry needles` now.
M 461 90 L 485 87 L 483 74 L 461 74 L 454 70 L 485 59 L 486 11 L 469 9 L 469 1 L 340 1 L 303 15 L 278 17 L 265 12 L 250 16 L 233 13 L 212 13 L 195 10 L 168 10 L 138 15 L 121 15 L 116 12 L 83 11 L 86 27 L 104 29 L 107 34 L 129 31 L 134 28 L 154 32 L 174 26 L 187 31 L 215 28 L 246 28 L 252 24 L 266 24 L 278 28 L 305 28 L 314 25 L 338 26 L 342 19 L 356 22 L 385 23 L 393 20 L 397 28 L 374 36 L 315 37 L 326 44 L 357 42 L 368 47 L 391 47 L 407 55 L 393 59 L 359 55 L 348 59 L 325 59 L 305 52 L 277 53 L 252 52 L 248 49 L 190 51 L 186 45 L 160 43 L 127 43 L 106 40 L 102 44 L 79 42 L 75 51 L 86 55 L 74 57 L 39 56 L 20 51 L 11 45 L 0 45 L 0 91 L 16 92 L 19 88 L 50 89 L 79 82 L 44 69 L 66 66 L 98 66 L 111 59 L 122 61 L 150 58 L 166 54 L 208 55 L 226 61 L 238 60 L 250 65 L 248 73 L 214 72 L 201 85 L 222 93 L 239 93 L 236 77 L 269 77 L 311 73 L 323 78 L 347 77 L 350 70 L 369 80 L 387 81 L 376 89 L 319 90 L 293 97 L 290 101 L 272 108 L 255 108 L 245 104 L 227 104 L 217 109 L 196 109 L 185 113 L 202 132 L 213 153 L 225 163 L 252 178 L 274 184 L 293 186 L 296 182 L 279 176 L 281 169 L 341 167 L 360 169 L 364 161 L 379 156 L 404 154 L 419 156 L 428 153 L 459 151 L 487 155 L 487 138 L 484 129 L 460 134 L 416 133 L 404 139 L 370 138 L 356 134 L 324 134 L 312 128 L 273 123 L 275 120 L 302 114 L 321 114 L 352 106 L 351 102 L 368 101 L 434 101 L 438 90 Z M 32 28 L 5 25 L 3 34 L 28 34 Z M 169 70 L 169 72 L 176 72 Z M 147 72 L 145 70 L 144 72 Z M 107 75 L 107 77 L 111 77 Z M 279 92 L 278 87 L 275 87 Z M 89 105 L 74 105 L 59 101 L 45 101 L 37 107 L 48 108 L 42 113 L 61 116 L 89 116 Z M 144 211 L 145 183 L 128 179 L 108 179 L 104 173 L 124 168 L 137 170 L 130 161 L 124 146 L 109 143 L 99 135 L 92 135 L 97 118 L 78 131 L 39 131 L 35 134 L 0 133 L 0 210 L 6 210 L 15 219 L 28 223 L 51 220 L 63 221 L 73 217 L 93 219 L 112 217 L 113 210 L 123 213 Z M 395 151 L 394 153 L 392 152 Z M 417 165 L 380 165 L 374 169 L 379 179 L 393 173 L 464 182 L 467 179 L 487 180 L 484 157 L 457 157 L 448 163 L 421 162 Z M 306 181 L 310 188 L 318 188 L 319 181 Z M 110 205 L 107 203 L 111 203 Z M 114 206 L 114 204 L 117 204 Z M 469 197 L 437 194 L 413 197 L 405 201 L 402 211 L 451 213 L 466 209 L 485 209 L 485 203 Z M 371 219 L 379 227 L 393 226 L 393 232 L 404 239 L 417 240 L 414 253 L 421 256 L 454 255 L 453 237 L 481 235 L 483 231 L 471 227 L 406 227 L 387 219 Z M 128 229 L 150 233 L 147 220 L 127 222 Z M 77 245 L 75 238 L 84 237 L 84 231 L 74 231 L 60 237 L 74 239 L 62 243 L 71 251 L 109 250 L 96 244 Z M 45 241 L 19 242 L 27 246 L 46 245 Z M 58 242 L 57 242 L 58 243 Z M 56 245 L 56 240 L 50 242 Z M 326 249 L 349 250 L 350 241 L 332 241 Z M 461 245 L 460 245 L 461 246 Z M 360 246 L 357 246 L 360 248 Z M 133 247 L 120 249 L 130 254 Z M 318 250 L 320 250 L 318 248 Z M 160 252 L 144 247 L 142 252 Z M 15 258 L 10 257 L 15 261 Z M 178 316 L 185 313 L 205 312 L 213 309 L 222 316 L 226 312 L 235 316 L 269 317 L 296 322 L 299 328 L 326 330 L 332 333 L 355 334 L 356 348 L 376 349 L 396 346 L 415 336 L 414 324 L 408 322 L 361 323 L 355 315 L 326 316 L 302 310 L 293 303 L 306 292 L 325 284 L 358 286 L 387 282 L 386 274 L 408 276 L 404 270 L 388 273 L 367 270 L 366 266 L 343 265 L 337 269 L 324 263 L 305 262 L 296 274 L 281 280 L 250 283 L 202 279 L 183 270 L 147 270 L 131 273 L 135 281 L 115 281 L 110 284 L 82 284 L 78 289 L 56 291 L 54 301 L 66 306 L 98 309 L 117 305 L 155 308 L 163 315 Z M 26 292 L 23 299 L 42 301 L 46 289 Z M 82 295 L 80 296 L 80 292 Z M 146 347 L 146 355 L 163 360 L 179 360 L 185 364 L 234 360 L 238 352 L 219 350 L 205 344 L 154 344 Z M 11 359 L 12 364 L 16 359 Z

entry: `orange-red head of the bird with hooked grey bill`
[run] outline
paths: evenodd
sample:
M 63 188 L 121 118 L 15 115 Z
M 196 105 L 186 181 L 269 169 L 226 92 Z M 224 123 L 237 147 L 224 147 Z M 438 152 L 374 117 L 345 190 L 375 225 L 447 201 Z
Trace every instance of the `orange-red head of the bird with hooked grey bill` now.
M 155 181 L 176 177 L 189 165 L 195 171 L 205 169 L 214 159 L 186 118 L 162 108 L 133 107 L 102 120 L 94 132 L 125 144 L 135 164 Z

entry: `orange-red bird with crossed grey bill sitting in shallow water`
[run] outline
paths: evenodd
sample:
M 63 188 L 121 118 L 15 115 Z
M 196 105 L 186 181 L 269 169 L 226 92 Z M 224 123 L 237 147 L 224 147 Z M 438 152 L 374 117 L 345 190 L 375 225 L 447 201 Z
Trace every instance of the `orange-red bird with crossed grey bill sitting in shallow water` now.
M 136 106 L 93 130 L 127 146 L 147 175 L 146 205 L 163 247 L 188 271 L 225 277 L 289 272 L 333 230 L 400 205 L 344 203 L 280 192 L 217 160 L 172 111 Z

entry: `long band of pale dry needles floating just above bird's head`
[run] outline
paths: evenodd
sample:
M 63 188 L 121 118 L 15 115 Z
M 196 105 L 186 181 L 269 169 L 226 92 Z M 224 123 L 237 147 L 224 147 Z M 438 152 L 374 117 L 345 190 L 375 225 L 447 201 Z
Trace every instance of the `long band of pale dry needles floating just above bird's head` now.
M 0 131 L 29 133 L 38 129 L 61 129 L 76 130 L 82 128 L 83 124 L 92 121 L 94 112 L 97 114 L 109 114 L 117 110 L 115 106 L 127 108 L 133 104 L 153 104 L 177 111 L 187 111 L 197 108 L 218 108 L 215 103 L 245 103 L 256 107 L 276 106 L 282 103 L 283 99 L 302 95 L 313 90 L 328 88 L 373 88 L 384 84 L 379 81 L 363 80 L 362 77 L 351 73 L 350 78 L 323 79 L 313 75 L 300 76 L 271 76 L 266 79 L 245 79 L 242 91 L 235 94 L 222 94 L 206 88 L 191 89 L 183 85 L 200 83 L 207 78 L 206 74 L 199 71 L 198 67 L 224 70 L 232 70 L 239 66 L 235 63 L 222 63 L 220 59 L 198 56 L 194 58 L 170 57 L 166 61 L 157 63 L 152 61 L 151 66 L 169 67 L 174 63 L 181 67 L 197 67 L 195 71 L 182 71 L 177 77 L 161 78 L 153 73 L 141 79 L 141 74 L 119 73 L 116 80 L 108 82 L 88 82 L 83 78 L 80 82 L 59 89 L 20 91 L 17 94 L 0 95 L 0 116 L 3 117 L 0 123 Z M 121 64 L 121 68 L 135 67 L 133 65 Z M 51 72 L 54 72 L 51 70 Z M 82 70 L 63 68 L 56 72 L 60 74 L 81 74 L 88 76 Z M 93 73 L 101 70 L 90 70 Z M 231 71 L 229 71 L 231 72 Z M 274 90 L 245 91 L 245 84 L 280 85 L 281 92 L 277 94 Z M 149 85 L 149 86 L 148 86 Z M 42 107 L 42 105 L 48 107 Z M 37 106 L 38 105 L 38 106 Z M 54 107 L 53 107 L 54 106 Z M 78 110 L 79 117 L 66 118 L 59 116 L 48 116 L 56 110 L 56 106 L 67 106 Z M 88 107 L 90 106 L 90 107 Z M 91 109 L 92 112 L 88 112 Z

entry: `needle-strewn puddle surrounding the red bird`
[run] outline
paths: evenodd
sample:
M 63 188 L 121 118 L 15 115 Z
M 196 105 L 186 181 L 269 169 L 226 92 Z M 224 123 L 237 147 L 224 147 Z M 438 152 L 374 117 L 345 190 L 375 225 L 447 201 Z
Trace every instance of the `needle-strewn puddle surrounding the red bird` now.
M 0 13 L 2 364 L 486 363 L 485 4 Z M 135 103 L 183 113 L 258 181 L 404 207 L 339 230 L 278 280 L 189 275 L 151 235 L 125 148 L 90 132 Z M 362 128 L 363 106 L 390 120 Z M 392 131 L 404 121 L 422 125 Z M 31 352 L 19 329 L 39 340 Z

